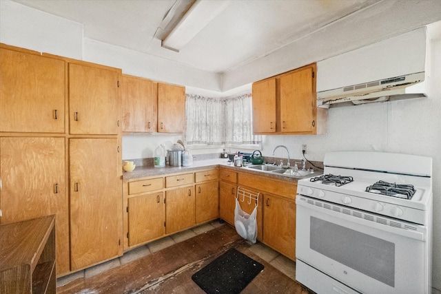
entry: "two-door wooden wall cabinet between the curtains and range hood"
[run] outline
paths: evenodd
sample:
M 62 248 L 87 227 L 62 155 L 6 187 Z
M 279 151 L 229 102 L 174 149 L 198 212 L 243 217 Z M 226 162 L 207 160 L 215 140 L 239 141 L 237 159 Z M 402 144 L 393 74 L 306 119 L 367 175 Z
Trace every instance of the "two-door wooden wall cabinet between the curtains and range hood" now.
M 316 64 L 253 84 L 255 134 L 325 134 L 327 109 L 316 107 Z

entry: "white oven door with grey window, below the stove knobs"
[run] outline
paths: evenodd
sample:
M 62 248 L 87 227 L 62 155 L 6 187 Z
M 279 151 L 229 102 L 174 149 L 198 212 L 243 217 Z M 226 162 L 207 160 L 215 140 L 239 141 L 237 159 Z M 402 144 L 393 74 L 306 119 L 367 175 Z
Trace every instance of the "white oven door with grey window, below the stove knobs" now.
M 297 266 L 298 282 L 319 294 L 351 293 L 316 288 L 320 275 L 360 293 L 429 293 L 425 227 L 393 227 L 402 222 L 300 195 L 296 204 L 296 258 L 317 273 Z

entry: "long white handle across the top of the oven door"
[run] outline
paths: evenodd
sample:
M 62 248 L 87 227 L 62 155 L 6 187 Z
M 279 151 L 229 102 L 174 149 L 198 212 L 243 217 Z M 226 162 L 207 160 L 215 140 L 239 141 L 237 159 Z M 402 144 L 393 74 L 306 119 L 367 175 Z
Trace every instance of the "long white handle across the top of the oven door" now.
M 358 218 L 356 216 L 351 216 L 351 215 L 348 215 L 347 213 L 340 213 L 338 211 L 334 211 L 331 209 L 326 209 L 326 208 L 320 207 L 316 203 L 322 203 L 322 202 L 319 200 L 314 200 L 313 198 L 307 198 L 307 199 L 313 200 L 314 204 L 310 204 L 309 202 L 307 202 L 307 200 L 302 200 L 302 198 L 305 199 L 305 196 L 297 195 L 297 197 L 296 197 L 297 209 L 300 209 L 300 207 L 305 207 L 306 209 L 311 209 L 312 211 L 317 211 L 320 214 L 327 214 L 329 216 L 333 216 L 334 218 L 339 218 L 340 220 L 345 220 L 345 222 L 351 221 L 356 224 L 360 224 L 362 226 L 375 228 L 380 231 L 386 231 L 388 233 L 392 233 L 395 235 L 401 235 L 406 238 L 412 238 L 412 239 L 420 240 L 423 242 L 427 241 L 426 240 L 427 239 L 427 237 L 426 237 L 427 236 L 427 228 L 426 227 L 421 228 L 423 230 L 422 232 L 421 231 L 411 231 L 409 229 L 400 229 L 397 227 L 391 227 L 387 224 L 381 224 L 378 222 L 374 222 L 372 220 L 365 220 L 364 218 Z M 331 204 L 331 205 L 338 206 L 335 204 Z M 346 208 L 351 210 L 350 207 L 346 207 Z M 382 218 L 389 219 L 387 217 L 382 217 Z M 402 221 L 395 220 L 395 219 L 393 219 L 393 222 L 402 223 Z M 420 225 L 418 225 L 418 226 L 420 226 Z M 422 226 L 420 226 L 420 227 L 422 227 Z

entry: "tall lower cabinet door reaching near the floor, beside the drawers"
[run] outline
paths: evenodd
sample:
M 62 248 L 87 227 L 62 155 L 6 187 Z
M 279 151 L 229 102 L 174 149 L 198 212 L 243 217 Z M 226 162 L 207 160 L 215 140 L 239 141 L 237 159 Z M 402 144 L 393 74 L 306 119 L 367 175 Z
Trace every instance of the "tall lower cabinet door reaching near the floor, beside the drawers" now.
M 70 139 L 72 271 L 122 254 L 116 138 Z

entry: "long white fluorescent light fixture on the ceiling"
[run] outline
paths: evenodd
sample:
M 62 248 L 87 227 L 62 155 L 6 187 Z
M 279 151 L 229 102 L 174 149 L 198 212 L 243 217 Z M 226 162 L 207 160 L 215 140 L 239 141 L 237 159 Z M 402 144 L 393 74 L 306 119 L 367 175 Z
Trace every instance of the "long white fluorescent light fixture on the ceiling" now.
M 163 39 L 161 46 L 179 52 L 227 7 L 229 1 L 196 0 L 170 34 Z

